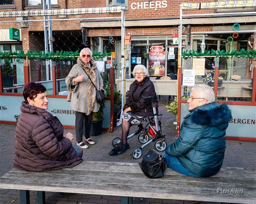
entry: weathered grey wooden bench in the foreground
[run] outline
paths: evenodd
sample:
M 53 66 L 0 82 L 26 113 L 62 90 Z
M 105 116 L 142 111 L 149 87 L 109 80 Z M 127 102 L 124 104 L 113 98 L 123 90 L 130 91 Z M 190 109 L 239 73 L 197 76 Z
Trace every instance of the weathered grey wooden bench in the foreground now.
M 74 168 L 50 172 L 12 169 L 0 178 L 0 188 L 20 190 L 20 203 L 29 203 L 29 190 L 37 191 L 38 204 L 45 191 L 133 197 L 256 203 L 256 169 L 222 168 L 209 178 L 193 178 L 167 169 L 164 178 L 149 179 L 138 163 L 84 161 Z

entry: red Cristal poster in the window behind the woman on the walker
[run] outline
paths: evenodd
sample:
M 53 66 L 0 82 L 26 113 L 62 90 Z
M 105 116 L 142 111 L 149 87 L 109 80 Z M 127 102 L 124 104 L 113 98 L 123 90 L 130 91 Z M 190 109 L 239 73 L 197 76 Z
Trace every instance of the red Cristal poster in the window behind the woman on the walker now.
M 166 54 L 162 45 L 152 45 L 148 56 L 149 76 L 165 76 Z

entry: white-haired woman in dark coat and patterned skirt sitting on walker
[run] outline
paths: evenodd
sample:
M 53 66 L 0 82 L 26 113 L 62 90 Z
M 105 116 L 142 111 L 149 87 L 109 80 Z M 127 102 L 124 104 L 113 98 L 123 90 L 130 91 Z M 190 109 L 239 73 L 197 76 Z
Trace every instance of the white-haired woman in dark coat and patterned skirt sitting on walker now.
M 131 84 L 126 104 L 123 106 L 122 136 L 118 147 L 109 152 L 110 155 L 123 154 L 130 148 L 127 136 L 131 125 L 140 123 L 145 116 L 153 116 L 151 100 L 145 100 L 145 96 L 156 97 L 154 84 L 149 79 L 147 68 L 138 64 L 133 69 L 135 81 Z

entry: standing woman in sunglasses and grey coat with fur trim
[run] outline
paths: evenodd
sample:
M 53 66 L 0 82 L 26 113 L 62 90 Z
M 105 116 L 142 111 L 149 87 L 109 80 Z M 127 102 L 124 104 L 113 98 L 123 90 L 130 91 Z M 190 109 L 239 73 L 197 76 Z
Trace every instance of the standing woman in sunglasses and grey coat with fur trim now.
M 99 111 L 100 104 L 96 101 L 96 89 L 93 84 L 97 90 L 103 90 L 103 80 L 92 59 L 92 52 L 89 48 L 84 48 L 80 52 L 80 57 L 77 58 L 77 63 L 66 77 L 66 86 L 69 91 L 67 100 L 71 101 L 71 108 L 76 111 L 76 145 L 82 149 L 89 148 L 85 143 L 95 145 L 95 142 L 90 139 L 90 126 L 92 113 Z

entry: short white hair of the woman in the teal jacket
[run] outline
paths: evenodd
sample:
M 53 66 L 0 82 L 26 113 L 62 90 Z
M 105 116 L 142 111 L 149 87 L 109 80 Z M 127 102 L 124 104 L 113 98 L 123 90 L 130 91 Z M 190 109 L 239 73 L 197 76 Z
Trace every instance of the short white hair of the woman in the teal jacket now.
M 207 99 L 207 104 L 215 101 L 215 94 L 212 87 L 206 84 L 199 84 L 197 86 L 193 86 L 191 91 L 196 91 L 198 93 L 198 97 Z

